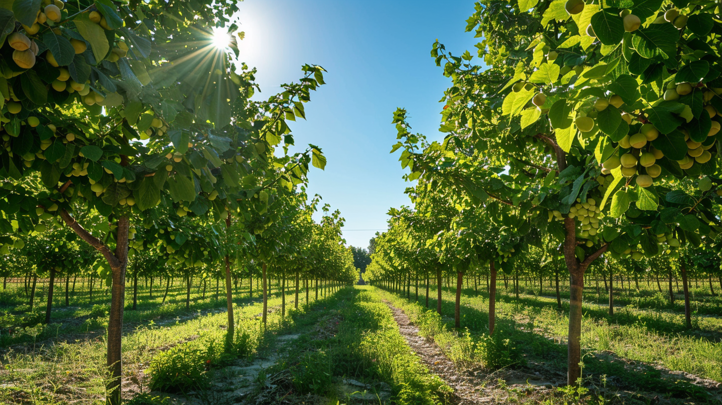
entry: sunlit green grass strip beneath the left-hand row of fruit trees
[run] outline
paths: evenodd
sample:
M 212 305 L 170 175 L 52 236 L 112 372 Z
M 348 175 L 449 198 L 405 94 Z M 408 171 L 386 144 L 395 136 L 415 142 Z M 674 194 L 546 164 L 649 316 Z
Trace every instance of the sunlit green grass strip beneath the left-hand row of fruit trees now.
M 293 293 L 287 293 L 287 310 Z M 202 307 L 204 303 L 196 306 Z M 207 303 L 206 303 L 207 304 Z M 281 299 L 269 299 L 269 329 L 279 328 Z M 178 310 L 178 304 L 167 304 Z M 248 333 L 248 324 L 258 323 L 261 315 L 261 302 L 236 304 L 234 315 L 239 325 L 237 337 L 243 340 L 243 333 Z M 84 310 L 88 310 L 86 307 Z M 92 310 L 92 307 L 90 307 Z M 156 323 L 150 320 L 136 325 L 123 336 L 123 377 L 135 378 L 143 388 L 144 380 L 137 376 L 152 366 L 152 360 L 159 353 L 168 351 L 185 342 L 217 341 L 225 336 L 222 329 L 227 323 L 225 311 L 213 311 L 203 315 L 196 309 L 192 314 L 178 312 L 173 319 L 170 310 L 149 309 L 147 315 L 165 313 L 169 319 Z M 127 312 L 126 312 L 127 313 Z M 183 317 L 178 315 L 183 315 Z M 105 315 L 103 315 L 105 316 Z M 288 316 L 288 315 L 287 315 Z M 140 317 L 139 317 L 140 318 Z M 107 320 L 106 320 L 107 322 Z M 255 344 L 246 339 L 248 351 L 245 356 L 252 356 L 260 346 L 262 339 Z M 29 402 L 32 404 L 65 404 L 75 400 L 90 403 L 103 402 L 105 397 L 105 337 L 103 333 L 95 336 L 84 336 L 77 340 L 50 341 L 48 344 L 16 351 L 6 351 L 0 363 L 0 380 L 8 382 L 0 386 L 0 403 Z M 209 359 L 221 362 L 221 354 L 214 351 Z M 205 356 L 209 354 L 206 349 Z M 206 357 L 203 358 L 206 360 Z M 206 367 L 206 364 L 203 364 Z M 152 368 L 152 367 L 151 367 Z M 127 384 L 127 382 L 126 382 Z

